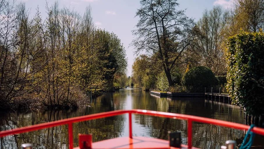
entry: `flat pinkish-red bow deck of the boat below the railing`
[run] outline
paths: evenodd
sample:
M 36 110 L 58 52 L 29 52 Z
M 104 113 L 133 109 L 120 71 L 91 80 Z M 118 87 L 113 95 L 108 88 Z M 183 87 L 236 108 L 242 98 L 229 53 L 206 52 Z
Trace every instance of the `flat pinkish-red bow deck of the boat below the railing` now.
M 182 148 L 187 146 L 182 145 Z M 178 149 L 169 146 L 169 141 L 149 137 L 120 137 L 92 143 L 92 149 Z M 80 149 L 76 147 L 74 149 Z M 199 149 L 192 147 L 192 149 Z

